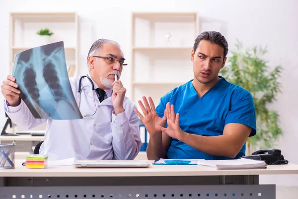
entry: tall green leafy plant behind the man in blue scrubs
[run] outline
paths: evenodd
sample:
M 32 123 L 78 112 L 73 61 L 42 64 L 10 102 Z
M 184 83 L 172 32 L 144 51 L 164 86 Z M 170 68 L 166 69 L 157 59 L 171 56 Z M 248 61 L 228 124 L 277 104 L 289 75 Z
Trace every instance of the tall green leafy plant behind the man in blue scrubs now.
M 253 97 L 257 117 L 257 134 L 247 139 L 248 153 L 246 155 L 250 155 L 256 148 L 273 147 L 275 141 L 283 133 L 278 125 L 278 113 L 267 107 L 281 92 L 278 78 L 283 68 L 276 66 L 269 71 L 268 62 L 262 58 L 267 53 L 266 47 L 254 46 L 244 49 L 239 41 L 235 46 L 236 49 L 231 52 L 226 66 L 221 70 L 221 75 L 230 83 L 248 90 Z

